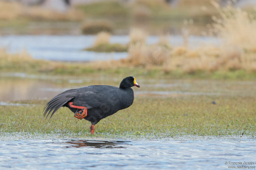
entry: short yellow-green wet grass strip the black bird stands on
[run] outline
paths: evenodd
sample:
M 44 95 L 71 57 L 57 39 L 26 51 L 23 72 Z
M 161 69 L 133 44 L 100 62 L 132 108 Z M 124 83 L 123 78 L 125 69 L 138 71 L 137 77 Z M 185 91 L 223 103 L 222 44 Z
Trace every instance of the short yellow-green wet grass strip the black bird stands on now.
M 216 100 L 217 104 L 211 101 Z M 0 106 L 1 136 L 7 133 L 89 137 L 90 122 L 61 108 L 44 120 L 46 100 L 31 106 Z M 131 107 L 101 120 L 94 137 L 147 138 L 199 136 L 255 136 L 256 100 L 238 96 L 136 97 Z

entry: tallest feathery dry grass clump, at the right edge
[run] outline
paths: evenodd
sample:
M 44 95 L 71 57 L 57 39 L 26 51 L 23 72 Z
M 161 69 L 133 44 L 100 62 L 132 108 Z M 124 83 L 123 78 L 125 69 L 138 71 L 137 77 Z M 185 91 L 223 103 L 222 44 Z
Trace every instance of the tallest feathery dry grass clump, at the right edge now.
M 231 5 L 218 9 L 219 16 L 213 16 L 215 23 L 211 32 L 223 40 L 219 63 L 228 70 L 244 69 L 255 71 L 256 64 L 256 17 L 254 14 Z

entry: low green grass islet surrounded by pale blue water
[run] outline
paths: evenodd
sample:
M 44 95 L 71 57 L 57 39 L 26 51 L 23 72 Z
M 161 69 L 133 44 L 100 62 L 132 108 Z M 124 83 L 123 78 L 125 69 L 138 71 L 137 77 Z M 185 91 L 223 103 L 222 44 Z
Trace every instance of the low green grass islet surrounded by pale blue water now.
M 89 47 L 84 50 L 96 52 L 125 52 L 127 51 L 127 46 L 119 43 L 99 44 L 97 46 Z

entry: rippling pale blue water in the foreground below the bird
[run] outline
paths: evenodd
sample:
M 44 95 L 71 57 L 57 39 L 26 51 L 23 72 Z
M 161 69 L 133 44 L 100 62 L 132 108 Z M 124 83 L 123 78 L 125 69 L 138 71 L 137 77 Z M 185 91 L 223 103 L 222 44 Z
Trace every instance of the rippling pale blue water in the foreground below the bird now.
M 256 163 L 254 140 L 0 141 L 0 169 L 227 169 Z M 239 165 L 239 166 L 254 166 Z

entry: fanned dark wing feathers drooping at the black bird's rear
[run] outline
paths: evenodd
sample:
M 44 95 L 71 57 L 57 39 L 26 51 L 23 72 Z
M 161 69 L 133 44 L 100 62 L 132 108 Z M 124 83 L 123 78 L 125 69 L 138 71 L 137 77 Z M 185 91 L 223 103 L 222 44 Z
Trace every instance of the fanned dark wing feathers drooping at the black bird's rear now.
M 52 98 L 46 105 L 44 108 L 44 116 L 47 114 L 46 119 L 48 117 L 48 115 L 51 113 L 51 117 L 52 115 L 64 104 L 66 104 L 69 100 L 73 99 L 74 97 L 77 96 L 77 89 L 70 89 L 67 91 L 64 91 L 60 94 L 58 94 L 57 96 L 55 96 L 54 98 Z M 50 117 L 50 119 L 51 119 Z

